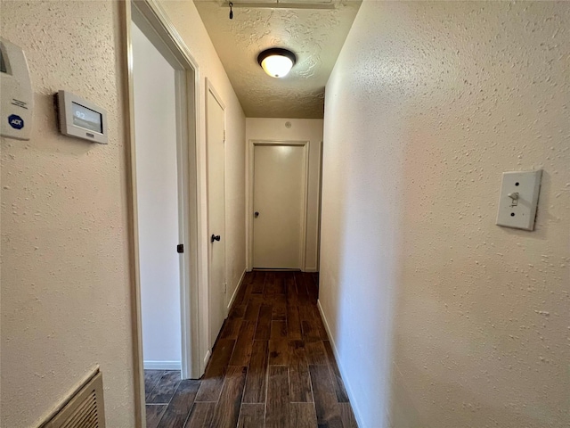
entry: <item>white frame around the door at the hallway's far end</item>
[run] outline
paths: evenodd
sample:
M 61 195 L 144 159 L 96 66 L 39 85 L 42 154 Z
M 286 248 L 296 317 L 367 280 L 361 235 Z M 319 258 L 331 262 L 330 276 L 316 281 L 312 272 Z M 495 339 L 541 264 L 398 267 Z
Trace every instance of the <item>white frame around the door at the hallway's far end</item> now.
M 270 145 L 270 146 L 283 146 L 283 145 L 295 145 L 301 146 L 304 149 L 304 166 L 303 166 L 303 218 L 301 219 L 301 243 L 300 243 L 300 258 L 301 258 L 301 270 L 305 271 L 306 268 L 306 229 L 307 229 L 307 209 L 308 209 L 308 195 L 309 195 L 309 141 L 296 141 L 296 140 L 249 140 L 248 147 L 248 162 L 247 162 L 247 174 L 248 174 L 248 192 L 246 202 L 246 207 L 248 212 L 246 213 L 247 229 L 248 229 L 248 254 L 247 254 L 247 265 L 248 271 L 253 269 L 253 195 L 254 195 L 254 171 L 255 171 L 255 149 L 256 145 Z

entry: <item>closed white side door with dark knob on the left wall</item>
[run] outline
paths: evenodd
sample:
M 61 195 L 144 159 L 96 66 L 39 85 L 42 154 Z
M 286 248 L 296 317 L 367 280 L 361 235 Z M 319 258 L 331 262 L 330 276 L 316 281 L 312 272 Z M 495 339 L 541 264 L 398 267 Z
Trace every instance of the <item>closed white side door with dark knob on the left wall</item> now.
M 210 347 L 225 319 L 224 105 L 208 84 L 208 257 Z

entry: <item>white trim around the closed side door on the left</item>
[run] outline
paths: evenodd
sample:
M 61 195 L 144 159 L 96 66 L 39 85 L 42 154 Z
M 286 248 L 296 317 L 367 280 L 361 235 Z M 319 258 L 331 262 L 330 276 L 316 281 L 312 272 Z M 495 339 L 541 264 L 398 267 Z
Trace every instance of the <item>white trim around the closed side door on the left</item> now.
M 225 244 L 226 243 L 225 228 L 227 226 L 226 225 L 226 219 L 225 219 L 225 202 L 226 202 L 225 201 L 225 188 L 226 188 L 226 185 L 225 185 L 225 124 L 226 124 L 225 103 L 222 100 L 222 97 L 220 95 L 218 95 L 216 88 L 212 85 L 211 80 L 208 78 L 206 78 L 206 90 L 214 97 L 214 99 L 216 100 L 216 103 L 218 103 L 219 106 L 222 108 L 222 111 L 224 111 L 224 165 L 223 165 L 223 168 L 224 168 L 224 183 L 223 183 L 223 185 L 224 185 L 224 204 L 223 204 L 223 212 L 222 212 L 222 216 L 224 218 L 224 226 L 223 226 L 223 230 L 220 233 L 220 235 L 222 235 L 222 241 L 220 243 L 224 245 L 224 284 L 226 284 L 227 273 L 225 272 L 225 269 L 227 268 L 227 250 L 228 250 L 228 248 L 227 248 L 227 245 Z M 208 230 L 208 233 L 209 233 L 210 229 L 209 229 L 209 215 L 208 215 L 208 213 L 209 213 L 210 207 L 209 207 L 209 198 L 208 198 L 208 193 L 209 193 L 209 182 L 208 182 L 208 144 L 209 144 L 209 136 L 208 136 L 208 119 L 209 119 L 208 118 L 208 94 L 206 94 L 205 109 L 206 109 L 205 111 L 206 111 L 206 151 L 207 151 L 206 152 L 206 160 L 207 160 L 206 161 L 206 169 L 207 169 L 206 170 L 206 201 L 207 201 L 207 215 L 206 215 L 207 226 L 206 226 L 206 229 Z M 208 236 L 208 238 L 209 238 L 209 236 Z M 208 246 L 208 249 L 209 248 L 210 247 Z M 210 279 L 211 279 L 210 268 L 211 267 L 209 264 L 209 253 L 208 253 L 208 311 L 209 311 L 209 307 L 210 307 L 209 306 L 210 305 L 209 290 L 211 289 L 210 287 L 212 285 L 212 284 L 210 284 Z M 227 289 L 227 285 L 225 285 L 225 287 Z M 226 308 L 226 306 L 227 306 L 226 300 L 227 300 L 227 294 L 224 294 L 224 308 Z M 226 313 L 224 315 L 225 315 L 225 317 L 227 317 L 227 315 L 228 315 L 227 309 L 226 309 Z M 208 319 L 208 340 L 209 340 L 209 337 L 211 337 L 211 333 L 212 333 L 211 332 L 212 326 L 209 323 L 209 319 L 210 319 L 209 313 L 208 313 L 207 319 Z M 208 350 L 211 350 L 213 346 L 214 346 L 214 343 L 209 343 L 208 344 Z

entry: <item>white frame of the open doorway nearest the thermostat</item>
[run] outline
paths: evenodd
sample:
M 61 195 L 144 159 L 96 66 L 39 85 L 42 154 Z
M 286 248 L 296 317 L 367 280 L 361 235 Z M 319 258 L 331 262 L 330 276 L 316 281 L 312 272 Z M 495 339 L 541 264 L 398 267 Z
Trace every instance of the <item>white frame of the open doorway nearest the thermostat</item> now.
M 141 277 L 139 258 L 136 158 L 134 138 L 134 74 L 131 22 L 136 21 L 146 37 L 159 49 L 176 70 L 176 85 L 183 88 L 183 96 L 176 99 L 177 158 L 179 183 L 179 234 L 184 243 L 181 260 L 181 331 L 182 374 L 184 378 L 198 378 L 204 370 L 203 344 L 200 332 L 207 327 L 201 323 L 203 309 L 199 305 L 200 262 L 199 251 L 199 67 L 188 46 L 155 0 L 130 0 L 123 4 L 123 57 L 126 62 L 126 168 L 129 220 L 129 256 L 131 278 L 131 305 L 134 351 L 135 420 L 137 426 L 146 425 L 144 399 L 144 369 L 142 362 Z M 158 43 L 155 43 L 158 42 Z M 172 62 L 176 63 L 173 64 Z M 181 203 L 182 202 L 182 203 Z M 175 249 L 173 249 L 175 251 Z

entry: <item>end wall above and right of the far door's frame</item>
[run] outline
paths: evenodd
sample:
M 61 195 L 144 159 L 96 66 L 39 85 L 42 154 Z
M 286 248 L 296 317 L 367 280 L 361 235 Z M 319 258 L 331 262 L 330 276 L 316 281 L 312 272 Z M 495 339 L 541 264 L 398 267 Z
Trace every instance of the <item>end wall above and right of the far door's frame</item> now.
M 291 127 L 286 128 L 285 123 Z M 246 119 L 246 141 L 308 141 L 309 183 L 306 220 L 305 270 L 319 269 L 319 181 L 321 168 L 322 119 Z M 248 213 L 249 217 L 251 213 Z M 248 226 L 252 226 L 248 224 Z M 248 232 L 249 233 L 249 232 Z

